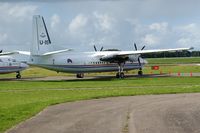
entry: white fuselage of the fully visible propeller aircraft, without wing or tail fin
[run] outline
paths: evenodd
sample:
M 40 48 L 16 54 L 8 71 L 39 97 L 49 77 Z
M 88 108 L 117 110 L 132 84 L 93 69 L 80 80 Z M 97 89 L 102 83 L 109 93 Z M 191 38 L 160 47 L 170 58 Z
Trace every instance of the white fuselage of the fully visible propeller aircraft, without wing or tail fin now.
M 118 71 L 117 63 L 100 61 L 103 52 L 74 52 L 69 51 L 48 56 L 31 56 L 29 64 L 68 73 L 90 73 Z M 109 51 L 110 53 L 110 51 Z M 114 52 L 113 52 L 114 53 Z M 103 53 L 106 54 L 106 51 Z M 138 55 L 129 56 L 130 61 L 124 64 L 124 70 L 139 69 Z M 147 61 L 141 59 L 141 65 Z

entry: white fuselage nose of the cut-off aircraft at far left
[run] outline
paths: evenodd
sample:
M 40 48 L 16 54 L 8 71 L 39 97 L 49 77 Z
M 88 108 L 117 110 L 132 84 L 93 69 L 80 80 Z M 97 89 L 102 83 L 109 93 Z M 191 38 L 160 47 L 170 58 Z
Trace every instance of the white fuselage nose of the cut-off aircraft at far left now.
M 20 72 L 27 67 L 27 64 L 17 62 L 11 56 L 0 56 L 0 74 Z

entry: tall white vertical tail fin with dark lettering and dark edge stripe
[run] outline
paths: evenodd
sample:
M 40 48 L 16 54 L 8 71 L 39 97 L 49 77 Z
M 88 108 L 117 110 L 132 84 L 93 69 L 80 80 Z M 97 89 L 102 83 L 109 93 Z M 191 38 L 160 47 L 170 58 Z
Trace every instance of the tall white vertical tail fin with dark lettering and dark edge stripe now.
M 44 18 L 40 15 L 33 16 L 33 38 L 31 55 L 42 55 L 51 51 L 51 40 L 47 31 Z

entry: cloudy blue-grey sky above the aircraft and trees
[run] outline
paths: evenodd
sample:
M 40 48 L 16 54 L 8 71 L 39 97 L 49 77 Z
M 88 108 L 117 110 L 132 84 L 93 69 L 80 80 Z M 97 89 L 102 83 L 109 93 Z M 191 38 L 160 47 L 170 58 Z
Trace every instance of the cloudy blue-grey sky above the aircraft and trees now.
M 200 50 L 199 0 L 0 0 L 0 49 L 29 50 L 42 15 L 55 50 Z

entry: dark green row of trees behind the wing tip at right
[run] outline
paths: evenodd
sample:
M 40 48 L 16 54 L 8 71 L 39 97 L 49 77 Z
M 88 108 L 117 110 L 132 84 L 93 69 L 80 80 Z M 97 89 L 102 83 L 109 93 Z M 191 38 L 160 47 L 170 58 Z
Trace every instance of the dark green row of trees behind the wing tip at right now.
M 163 57 L 200 57 L 200 51 L 182 51 L 182 52 L 162 52 L 143 54 L 144 58 L 163 58 Z

